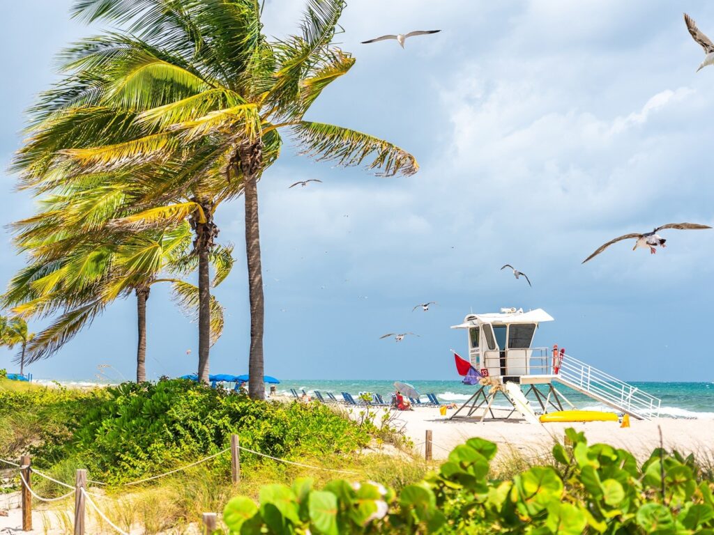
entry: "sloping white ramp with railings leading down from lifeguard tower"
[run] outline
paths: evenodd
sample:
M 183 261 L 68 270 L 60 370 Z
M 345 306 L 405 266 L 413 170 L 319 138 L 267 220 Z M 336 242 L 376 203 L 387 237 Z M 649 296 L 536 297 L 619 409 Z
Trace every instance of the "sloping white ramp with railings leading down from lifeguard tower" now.
M 661 399 L 570 355 L 563 357 L 554 379 L 631 417 L 640 420 L 659 417 Z

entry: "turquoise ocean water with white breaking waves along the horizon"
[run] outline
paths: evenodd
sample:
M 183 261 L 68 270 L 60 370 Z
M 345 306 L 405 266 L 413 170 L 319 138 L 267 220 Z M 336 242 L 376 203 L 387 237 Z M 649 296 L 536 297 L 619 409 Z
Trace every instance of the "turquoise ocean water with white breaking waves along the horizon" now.
M 441 402 L 461 404 L 471 397 L 478 387 L 463 384 L 461 381 L 408 381 L 422 394 L 422 401 L 426 401 L 426 394 L 436 394 Z M 632 382 L 633 386 L 662 399 L 660 416 L 670 418 L 699 418 L 714 419 L 714 383 L 712 382 Z M 278 393 L 290 395 L 290 389 L 301 392 L 305 389 L 312 395 L 313 390 L 333 392 L 341 399 L 341 392 L 358 394 L 359 392 L 376 392 L 383 396 L 394 392 L 392 381 L 370 380 L 286 380 L 277 385 Z M 578 409 L 600 410 L 609 409 L 599 404 L 595 399 L 575 392 L 562 384 L 555 384 L 561 392 Z M 543 387 L 541 387 L 543 389 Z M 525 388 L 524 388 L 525 390 Z M 535 401 L 535 400 L 534 400 Z M 494 406 L 504 407 L 506 399 L 497 397 Z

